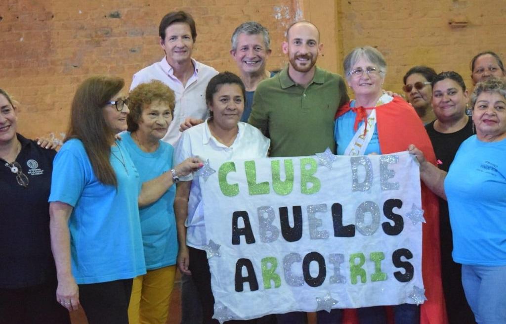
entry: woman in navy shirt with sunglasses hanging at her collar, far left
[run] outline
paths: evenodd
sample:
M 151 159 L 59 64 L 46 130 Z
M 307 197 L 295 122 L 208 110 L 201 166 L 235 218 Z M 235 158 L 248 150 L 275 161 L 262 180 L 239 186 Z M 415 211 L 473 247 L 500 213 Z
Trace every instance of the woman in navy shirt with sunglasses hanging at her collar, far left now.
M 17 131 L 17 107 L 0 89 L 0 323 L 70 323 L 54 299 L 49 191 L 56 152 Z

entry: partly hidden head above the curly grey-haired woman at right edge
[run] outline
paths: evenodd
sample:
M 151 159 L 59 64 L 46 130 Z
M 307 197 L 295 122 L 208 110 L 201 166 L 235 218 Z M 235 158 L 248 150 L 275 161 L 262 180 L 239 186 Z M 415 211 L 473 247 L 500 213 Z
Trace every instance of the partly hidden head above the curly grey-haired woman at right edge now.
M 473 79 L 473 86 L 491 77 L 504 76 L 506 76 L 504 65 L 499 55 L 494 52 L 481 52 L 471 60 L 471 78 Z

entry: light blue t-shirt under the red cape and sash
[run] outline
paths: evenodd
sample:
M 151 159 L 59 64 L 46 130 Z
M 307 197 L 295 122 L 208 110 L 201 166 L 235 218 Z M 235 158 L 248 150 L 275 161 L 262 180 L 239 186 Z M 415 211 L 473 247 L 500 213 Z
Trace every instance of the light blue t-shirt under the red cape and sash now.
M 350 104 L 351 107 L 355 106 L 355 100 L 353 100 Z M 347 111 L 344 115 L 340 116 L 338 119 L 335 120 L 335 126 L 334 126 L 334 139 L 335 143 L 338 144 L 338 155 L 344 155 L 346 148 L 350 144 L 351 140 L 355 136 L 355 130 L 353 126 L 355 125 L 355 116 L 357 114 L 353 111 Z M 360 121 L 358 123 L 358 130 L 360 130 L 360 127 L 364 125 L 364 121 Z M 372 138 L 369 141 L 369 144 L 367 145 L 367 148 L 365 149 L 364 155 L 370 154 L 370 153 L 377 153 L 381 154 L 381 149 L 379 148 L 379 137 L 378 137 L 378 130 L 376 127 L 376 124 L 374 124 L 374 133 L 372 133 Z

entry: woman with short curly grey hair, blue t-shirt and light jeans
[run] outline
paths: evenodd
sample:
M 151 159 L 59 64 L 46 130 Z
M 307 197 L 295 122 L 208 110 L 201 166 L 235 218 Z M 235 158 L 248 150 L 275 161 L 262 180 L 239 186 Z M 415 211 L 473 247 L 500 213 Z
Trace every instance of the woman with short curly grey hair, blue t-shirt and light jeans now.
M 453 260 L 478 323 L 506 323 L 506 82 L 478 83 L 471 96 L 476 135 L 458 148 L 448 174 L 411 145 L 420 177 L 448 200 Z

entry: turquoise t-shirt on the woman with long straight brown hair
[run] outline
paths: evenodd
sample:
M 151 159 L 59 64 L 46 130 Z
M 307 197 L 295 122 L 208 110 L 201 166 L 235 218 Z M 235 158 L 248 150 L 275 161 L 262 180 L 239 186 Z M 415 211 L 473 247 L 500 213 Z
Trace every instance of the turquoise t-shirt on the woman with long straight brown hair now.
M 49 201 L 73 207 L 68 222 L 72 274 L 77 284 L 146 273 L 139 221 L 139 174 L 121 141 L 111 147 L 114 186 L 101 183 L 78 139 L 55 157 Z M 124 163 L 124 166 L 123 166 Z

